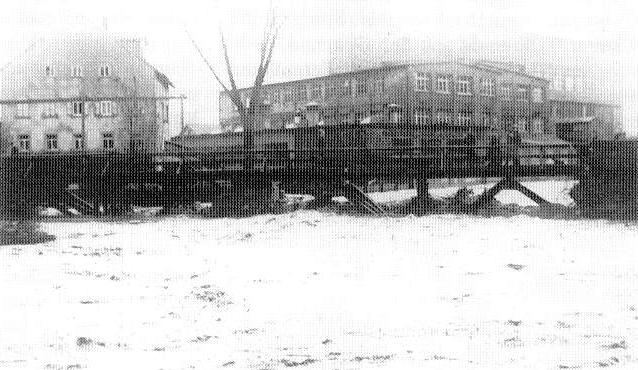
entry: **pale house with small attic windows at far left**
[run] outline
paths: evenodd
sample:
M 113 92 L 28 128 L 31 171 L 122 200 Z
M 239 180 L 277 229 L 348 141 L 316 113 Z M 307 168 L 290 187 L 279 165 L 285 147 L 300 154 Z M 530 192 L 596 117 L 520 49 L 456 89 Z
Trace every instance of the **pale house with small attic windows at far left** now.
M 163 149 L 173 85 L 137 39 L 42 40 L 0 79 L 1 131 L 14 151 Z

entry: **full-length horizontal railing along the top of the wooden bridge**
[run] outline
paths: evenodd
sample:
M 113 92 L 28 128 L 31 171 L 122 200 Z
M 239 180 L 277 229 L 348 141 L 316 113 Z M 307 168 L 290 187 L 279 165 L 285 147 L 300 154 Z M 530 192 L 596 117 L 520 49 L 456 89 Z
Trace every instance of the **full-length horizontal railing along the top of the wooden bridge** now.
M 407 168 L 445 171 L 454 168 L 503 167 L 511 165 L 552 167 L 578 165 L 579 153 L 569 145 L 500 145 L 500 146 L 419 146 L 419 147 L 325 147 L 313 149 L 266 149 L 250 153 L 243 150 L 205 151 L 185 149 L 175 152 L 57 152 L 17 153 L 12 162 L 59 166 L 78 159 L 93 163 L 141 162 L 159 166 L 183 167 L 194 171 L 348 169 L 367 171 L 404 170 Z M 54 169 L 52 169 L 54 170 Z

